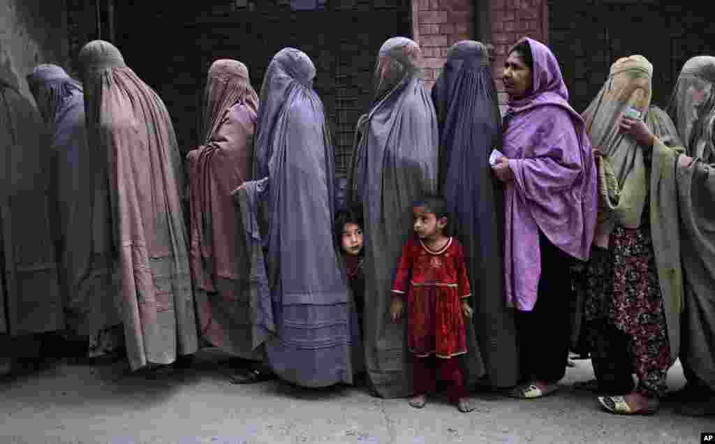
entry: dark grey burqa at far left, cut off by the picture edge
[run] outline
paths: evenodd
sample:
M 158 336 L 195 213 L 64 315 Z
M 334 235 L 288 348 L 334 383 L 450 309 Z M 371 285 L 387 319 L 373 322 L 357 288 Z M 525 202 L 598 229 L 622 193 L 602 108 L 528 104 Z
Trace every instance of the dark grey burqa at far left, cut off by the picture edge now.
M 0 79 L 0 340 L 64 329 L 50 230 L 49 137 L 32 104 Z M 4 342 L 4 341 L 3 341 Z M 2 345 L 0 357 L 16 355 Z

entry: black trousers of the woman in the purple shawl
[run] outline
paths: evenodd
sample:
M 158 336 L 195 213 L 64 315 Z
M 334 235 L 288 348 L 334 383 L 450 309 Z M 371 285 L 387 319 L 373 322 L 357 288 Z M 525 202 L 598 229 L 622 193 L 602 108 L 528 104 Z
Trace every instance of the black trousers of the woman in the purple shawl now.
M 571 333 L 573 258 L 539 232 L 541 277 L 531 312 L 516 311 L 521 380 L 556 383 L 566 374 Z

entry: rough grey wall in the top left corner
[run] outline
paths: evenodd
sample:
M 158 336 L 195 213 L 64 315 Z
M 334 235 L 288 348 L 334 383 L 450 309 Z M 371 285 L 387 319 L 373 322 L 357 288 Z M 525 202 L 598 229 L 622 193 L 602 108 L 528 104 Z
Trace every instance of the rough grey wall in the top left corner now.
M 0 77 L 29 97 L 37 64 L 68 67 L 65 1 L 0 0 Z

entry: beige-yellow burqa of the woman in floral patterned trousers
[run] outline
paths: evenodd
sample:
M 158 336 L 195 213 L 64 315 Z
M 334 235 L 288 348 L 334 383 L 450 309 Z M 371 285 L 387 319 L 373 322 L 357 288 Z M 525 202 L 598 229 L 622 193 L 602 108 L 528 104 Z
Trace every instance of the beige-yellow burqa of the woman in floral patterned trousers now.
M 674 172 L 682 148 L 667 114 L 651 105 L 652 76 L 653 66 L 644 56 L 616 60 L 601 91 L 583 112 L 583 121 L 597 153 L 599 212 L 593 243 L 608 248 L 616 226 L 636 229 L 643 212 L 648 212 L 671 358 L 675 360 L 683 284 Z M 658 137 L 650 165 L 643 147 L 619 130 L 629 107 L 641 112 Z M 646 207 L 649 193 L 650 206 Z

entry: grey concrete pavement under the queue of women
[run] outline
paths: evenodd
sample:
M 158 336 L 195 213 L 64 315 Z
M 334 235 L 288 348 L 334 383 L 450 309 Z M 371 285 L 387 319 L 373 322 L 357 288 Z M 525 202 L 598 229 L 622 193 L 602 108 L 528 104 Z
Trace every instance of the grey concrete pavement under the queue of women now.
M 687 418 L 664 405 L 651 417 L 598 408 L 571 384 L 588 380 L 589 361 L 568 369 L 562 390 L 541 400 L 473 395 L 459 413 L 445 397 L 422 410 L 405 400 L 373 398 L 364 388 L 308 390 L 273 381 L 232 385 L 222 357 L 199 355 L 194 367 L 161 380 L 126 373 L 127 365 L 57 365 L 0 383 L 0 443 L 699 443 L 715 418 Z M 678 365 L 671 389 L 684 384 Z

